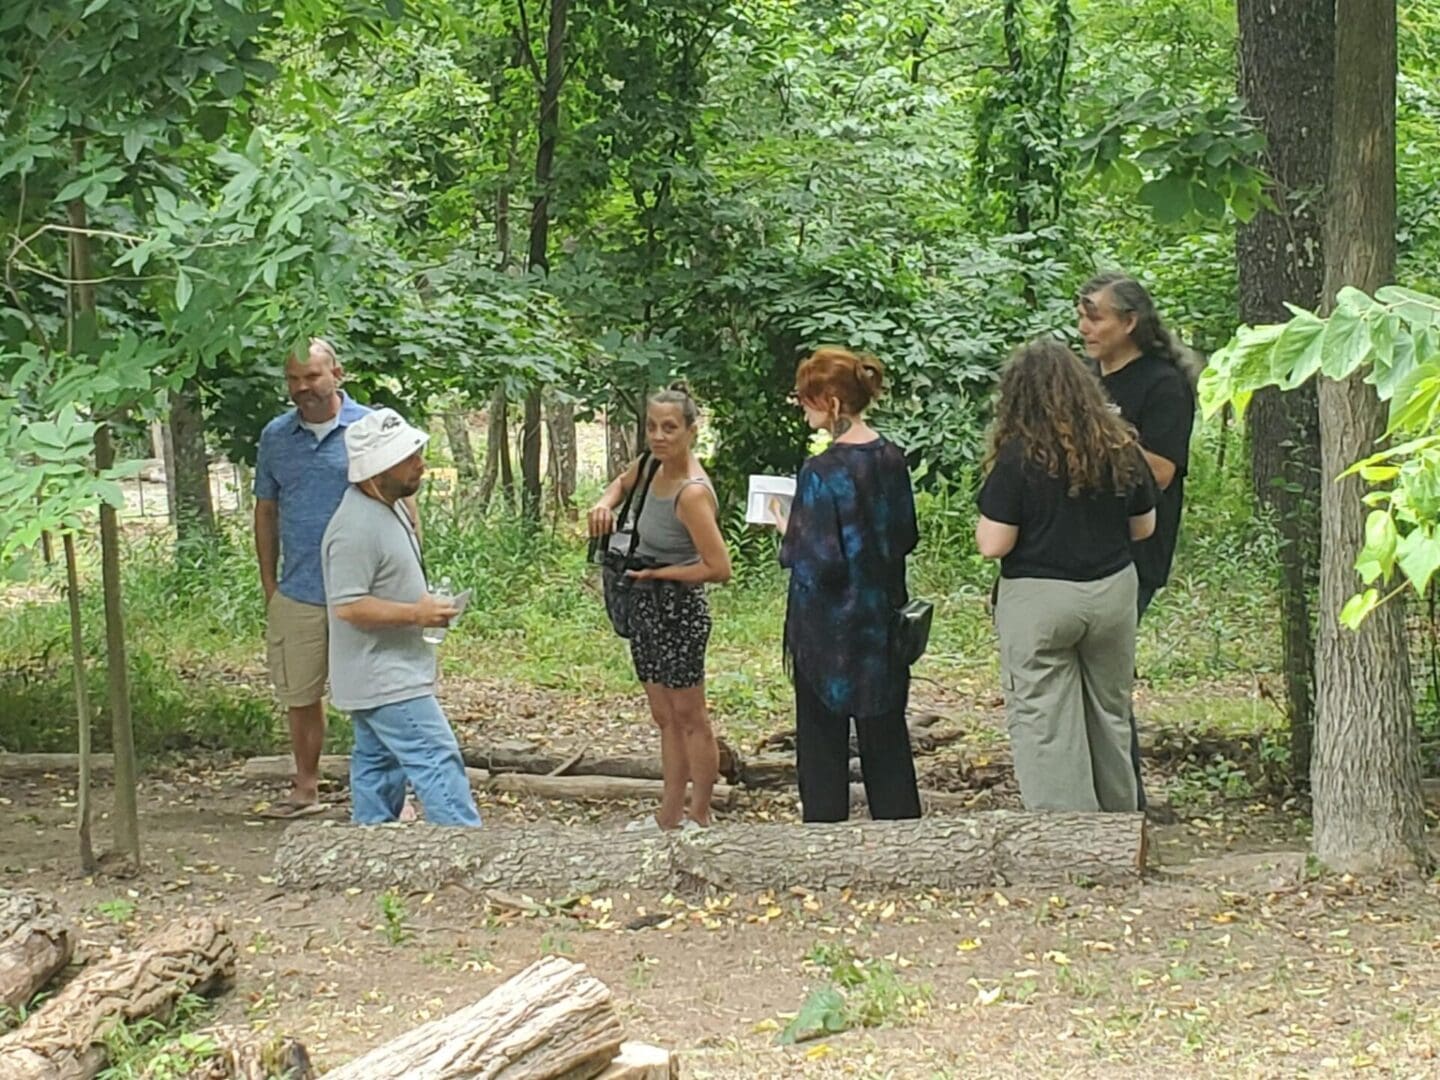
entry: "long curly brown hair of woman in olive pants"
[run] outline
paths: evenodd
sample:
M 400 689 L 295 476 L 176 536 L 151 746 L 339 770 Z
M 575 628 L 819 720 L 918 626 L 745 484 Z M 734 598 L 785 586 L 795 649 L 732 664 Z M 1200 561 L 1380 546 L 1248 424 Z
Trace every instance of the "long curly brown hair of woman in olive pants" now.
M 1018 441 L 1027 461 L 1064 477 L 1071 498 L 1139 484 L 1146 468 L 1135 429 L 1110 405 L 1100 380 L 1066 346 L 1037 338 L 1014 353 L 999 377 L 985 471 Z

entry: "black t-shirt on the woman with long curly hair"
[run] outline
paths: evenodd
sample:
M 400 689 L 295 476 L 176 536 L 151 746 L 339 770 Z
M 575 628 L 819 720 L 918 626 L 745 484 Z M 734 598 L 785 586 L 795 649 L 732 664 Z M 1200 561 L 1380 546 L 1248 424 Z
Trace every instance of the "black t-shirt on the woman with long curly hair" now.
M 1149 469 L 1140 475 L 1130 491 L 1071 498 L 1064 475 L 1045 475 L 1018 439 L 1007 442 L 979 495 L 985 517 L 1020 528 L 1015 547 L 999 562 L 1001 576 L 1096 582 L 1123 570 L 1130 564 L 1130 518 L 1155 505 L 1155 481 Z

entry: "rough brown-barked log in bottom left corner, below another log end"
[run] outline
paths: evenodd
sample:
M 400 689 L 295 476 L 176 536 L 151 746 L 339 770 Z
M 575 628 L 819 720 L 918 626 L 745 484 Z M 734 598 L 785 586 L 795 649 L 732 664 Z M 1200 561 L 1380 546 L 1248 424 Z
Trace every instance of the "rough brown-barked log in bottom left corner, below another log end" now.
M 216 919 L 171 923 L 137 949 L 92 963 L 0 1037 L 4 1080 L 88 1080 L 105 1064 L 117 1024 L 164 1018 L 186 994 L 209 994 L 235 973 L 235 945 Z

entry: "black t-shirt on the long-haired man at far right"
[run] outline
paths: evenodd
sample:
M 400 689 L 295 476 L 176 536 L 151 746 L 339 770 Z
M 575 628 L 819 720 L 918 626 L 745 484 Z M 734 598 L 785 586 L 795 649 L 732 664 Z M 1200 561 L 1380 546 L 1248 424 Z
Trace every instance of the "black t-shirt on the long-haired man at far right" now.
M 1139 432 L 1140 445 L 1175 462 L 1175 480 L 1159 492 L 1155 504 L 1155 533 L 1135 543 L 1135 569 L 1140 585 L 1159 589 L 1169 580 L 1175 540 L 1179 537 L 1195 393 L 1185 373 L 1159 356 L 1140 356 L 1119 372 L 1102 376 L 1100 382 L 1110 400 L 1120 406 L 1120 416 Z

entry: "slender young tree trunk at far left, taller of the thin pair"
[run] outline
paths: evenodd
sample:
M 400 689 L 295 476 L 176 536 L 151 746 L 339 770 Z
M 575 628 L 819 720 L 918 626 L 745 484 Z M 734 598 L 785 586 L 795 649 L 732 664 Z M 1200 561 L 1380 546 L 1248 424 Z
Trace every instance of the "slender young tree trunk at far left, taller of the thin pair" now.
M 84 160 L 84 141 L 75 143 L 76 160 Z M 89 235 L 85 203 L 72 200 L 68 207 L 71 279 L 71 351 L 82 353 L 96 344 L 95 287 L 91 281 Z M 115 444 L 109 423 L 95 429 L 95 468 L 115 465 Z M 109 681 L 109 714 L 115 755 L 115 812 L 111 815 L 114 850 L 140 868 L 140 808 L 135 786 L 135 729 L 130 717 L 130 658 L 125 655 L 125 615 L 120 583 L 120 517 L 108 503 L 99 505 L 101 590 L 105 598 L 105 667 Z

